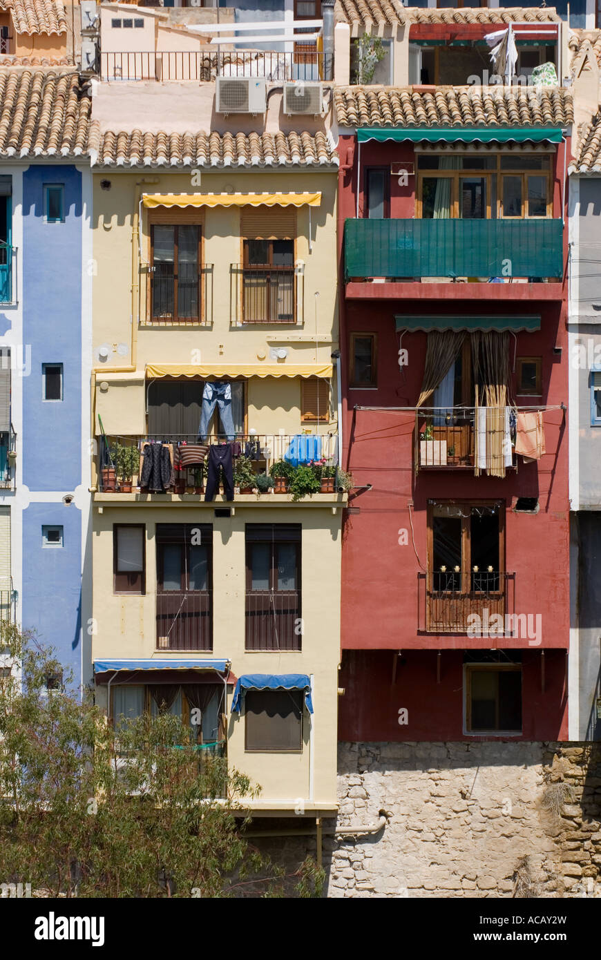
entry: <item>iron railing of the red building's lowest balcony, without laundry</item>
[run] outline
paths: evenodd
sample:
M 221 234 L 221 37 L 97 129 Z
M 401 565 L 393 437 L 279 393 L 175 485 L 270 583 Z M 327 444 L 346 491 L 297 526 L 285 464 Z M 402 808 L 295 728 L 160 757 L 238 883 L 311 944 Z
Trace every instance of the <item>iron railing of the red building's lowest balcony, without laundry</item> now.
M 515 636 L 515 624 L 508 619 L 514 613 L 515 594 L 515 573 L 419 573 L 418 630 L 427 634 Z

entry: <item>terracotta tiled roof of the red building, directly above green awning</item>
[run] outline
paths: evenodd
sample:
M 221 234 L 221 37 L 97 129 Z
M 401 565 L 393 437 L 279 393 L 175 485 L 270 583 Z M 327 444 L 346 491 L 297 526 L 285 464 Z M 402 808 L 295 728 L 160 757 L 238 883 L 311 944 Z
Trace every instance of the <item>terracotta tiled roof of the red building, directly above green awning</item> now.
M 562 87 L 343 86 L 334 105 L 345 127 L 565 127 L 574 119 Z

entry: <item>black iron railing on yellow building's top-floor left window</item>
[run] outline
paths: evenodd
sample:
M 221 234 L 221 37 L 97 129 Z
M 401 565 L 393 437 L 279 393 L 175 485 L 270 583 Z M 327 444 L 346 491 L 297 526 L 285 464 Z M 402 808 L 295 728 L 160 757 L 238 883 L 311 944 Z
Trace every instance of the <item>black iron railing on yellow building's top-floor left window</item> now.
M 213 264 L 157 263 L 150 269 L 151 324 L 211 324 Z

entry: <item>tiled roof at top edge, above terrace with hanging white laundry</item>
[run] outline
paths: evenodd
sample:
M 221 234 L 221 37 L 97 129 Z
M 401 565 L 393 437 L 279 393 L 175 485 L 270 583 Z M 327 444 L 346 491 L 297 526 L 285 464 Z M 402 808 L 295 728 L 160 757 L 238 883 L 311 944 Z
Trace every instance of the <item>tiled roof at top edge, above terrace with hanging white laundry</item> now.
M 561 20 L 553 7 L 511 7 L 489 10 L 486 7 L 464 7 L 462 10 L 428 10 L 403 7 L 399 0 L 336 0 L 336 19 L 352 27 L 397 26 L 407 23 L 466 24 L 516 23 L 528 21 L 548 23 Z

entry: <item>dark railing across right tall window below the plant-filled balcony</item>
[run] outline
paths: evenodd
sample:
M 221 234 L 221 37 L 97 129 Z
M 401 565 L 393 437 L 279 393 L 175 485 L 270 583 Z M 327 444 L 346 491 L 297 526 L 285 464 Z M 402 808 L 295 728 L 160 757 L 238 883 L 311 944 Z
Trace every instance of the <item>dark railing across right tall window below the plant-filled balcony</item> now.
M 300 592 L 249 590 L 246 650 L 300 650 Z

